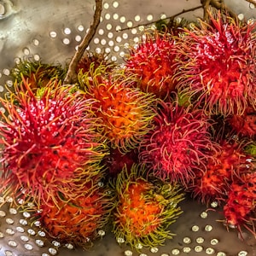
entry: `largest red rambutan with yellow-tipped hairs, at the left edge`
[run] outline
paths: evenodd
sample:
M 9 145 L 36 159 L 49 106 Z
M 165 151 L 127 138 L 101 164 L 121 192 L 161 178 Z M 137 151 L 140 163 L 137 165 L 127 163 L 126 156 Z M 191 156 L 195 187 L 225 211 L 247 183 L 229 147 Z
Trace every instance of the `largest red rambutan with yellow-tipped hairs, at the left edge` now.
M 95 175 L 106 154 L 102 136 L 96 132 L 92 101 L 56 80 L 39 97 L 25 80 L 15 84 L 15 90 L 10 98 L 1 99 L 6 109 L 0 125 L 1 190 L 10 189 L 15 198 L 26 190 L 23 196 L 40 205 L 56 191 L 65 195 L 66 187 L 79 189 Z

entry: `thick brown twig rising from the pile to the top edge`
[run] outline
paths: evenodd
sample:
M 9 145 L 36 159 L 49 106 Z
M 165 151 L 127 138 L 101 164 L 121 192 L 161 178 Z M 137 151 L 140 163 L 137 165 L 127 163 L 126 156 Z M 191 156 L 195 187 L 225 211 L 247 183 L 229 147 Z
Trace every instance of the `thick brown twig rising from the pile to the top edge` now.
M 84 50 L 90 44 L 90 41 L 94 37 L 96 33 L 96 29 L 100 24 L 101 15 L 102 15 L 102 0 L 95 0 L 95 3 L 96 3 L 96 9 L 93 15 L 93 21 L 90 24 L 90 28 L 86 33 L 86 35 L 84 36 L 82 43 L 79 44 L 78 50 L 73 55 L 73 59 L 71 60 L 68 66 L 67 75 L 66 75 L 66 78 L 64 79 L 64 84 L 74 84 L 77 82 L 78 78 L 76 74 L 76 68 L 82 56 L 84 55 Z

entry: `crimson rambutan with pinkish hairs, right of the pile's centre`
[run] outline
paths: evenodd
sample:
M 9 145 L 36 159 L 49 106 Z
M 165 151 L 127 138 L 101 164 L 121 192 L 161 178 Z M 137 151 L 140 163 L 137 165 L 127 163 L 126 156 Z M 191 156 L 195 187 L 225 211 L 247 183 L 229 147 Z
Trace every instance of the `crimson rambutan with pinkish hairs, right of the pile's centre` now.
M 201 109 L 179 106 L 178 101 L 160 102 L 154 129 L 140 144 L 139 160 L 157 177 L 187 186 L 216 146 L 210 126 Z

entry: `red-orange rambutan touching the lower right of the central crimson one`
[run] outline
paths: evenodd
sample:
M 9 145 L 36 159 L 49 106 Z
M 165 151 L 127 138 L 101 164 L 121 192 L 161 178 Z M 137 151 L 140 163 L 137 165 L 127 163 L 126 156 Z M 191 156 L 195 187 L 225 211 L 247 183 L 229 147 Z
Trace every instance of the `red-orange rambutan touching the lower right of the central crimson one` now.
M 252 167 L 251 155 L 244 151 L 245 144 L 235 140 L 222 140 L 218 151 L 204 163 L 204 171 L 195 172 L 189 185 L 192 196 L 207 206 L 212 201 L 221 205 L 230 191 L 230 184 Z

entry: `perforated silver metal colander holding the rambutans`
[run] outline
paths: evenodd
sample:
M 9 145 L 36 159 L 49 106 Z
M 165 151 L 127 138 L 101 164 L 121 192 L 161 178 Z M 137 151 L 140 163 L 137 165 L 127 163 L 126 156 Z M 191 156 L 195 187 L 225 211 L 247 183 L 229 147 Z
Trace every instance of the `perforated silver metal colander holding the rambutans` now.
M 225 3 L 242 19 L 256 19 L 253 3 L 229 0 Z M 199 6 L 199 0 L 105 0 L 102 5 L 101 24 L 88 49 L 106 52 L 113 61 L 122 61 L 128 44 L 137 43 L 145 24 L 175 15 L 183 9 Z M 0 92 L 6 93 L 5 84 L 13 85 L 10 69 L 20 58 L 35 61 L 66 63 L 74 54 L 84 33 L 90 26 L 94 1 L 87 0 L 0 0 Z M 195 20 L 202 9 L 181 17 Z M 256 241 L 252 234 L 227 231 L 218 207 L 214 211 L 187 199 L 183 201 L 182 218 L 172 224 L 177 234 L 164 247 L 131 251 L 120 247 L 108 230 L 101 230 L 102 240 L 96 241 L 89 252 L 49 241 L 38 222 L 30 220 L 29 212 L 20 212 L 11 205 L 12 198 L 0 197 L 0 255 L 256 255 Z

